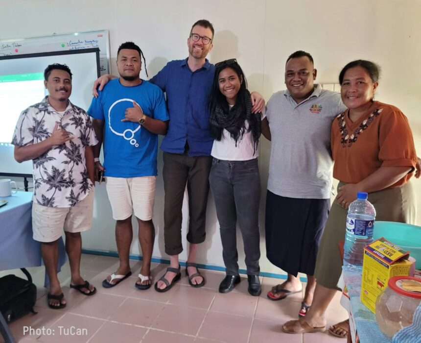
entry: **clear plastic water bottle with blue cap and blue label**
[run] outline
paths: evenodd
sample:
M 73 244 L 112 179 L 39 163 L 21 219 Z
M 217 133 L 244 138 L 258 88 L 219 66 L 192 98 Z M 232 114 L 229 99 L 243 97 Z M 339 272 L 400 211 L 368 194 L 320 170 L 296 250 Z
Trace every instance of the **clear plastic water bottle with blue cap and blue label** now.
M 344 265 L 362 266 L 364 247 L 373 242 L 375 209 L 367 197 L 367 193 L 358 192 L 348 208 Z

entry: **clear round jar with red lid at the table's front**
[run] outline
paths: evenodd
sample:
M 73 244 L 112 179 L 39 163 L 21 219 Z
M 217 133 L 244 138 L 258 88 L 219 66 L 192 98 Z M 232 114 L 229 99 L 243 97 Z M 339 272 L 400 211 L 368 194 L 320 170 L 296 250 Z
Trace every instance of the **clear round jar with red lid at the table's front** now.
M 380 330 L 389 338 L 412 324 L 414 313 L 421 303 L 421 279 L 395 276 L 377 297 L 375 318 Z

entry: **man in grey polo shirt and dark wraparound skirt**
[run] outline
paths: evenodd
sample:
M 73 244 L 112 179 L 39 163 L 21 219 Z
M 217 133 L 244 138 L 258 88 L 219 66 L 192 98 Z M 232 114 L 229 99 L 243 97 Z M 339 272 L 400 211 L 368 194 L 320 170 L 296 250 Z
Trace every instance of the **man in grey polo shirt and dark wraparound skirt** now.
M 330 126 L 345 110 L 339 93 L 314 84 L 317 71 L 305 51 L 291 54 L 285 66 L 287 90 L 267 104 L 262 132 L 272 141 L 266 198 L 266 251 L 288 279 L 267 294 L 281 300 L 302 291 L 298 272 L 308 283 L 300 316 L 313 301 L 314 267 L 330 208 L 333 161 Z

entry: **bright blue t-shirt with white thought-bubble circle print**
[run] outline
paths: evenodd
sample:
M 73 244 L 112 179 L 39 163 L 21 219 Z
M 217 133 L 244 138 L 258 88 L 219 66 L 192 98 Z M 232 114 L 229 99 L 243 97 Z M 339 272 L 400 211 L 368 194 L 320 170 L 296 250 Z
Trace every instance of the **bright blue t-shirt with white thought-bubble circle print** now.
M 93 98 L 88 113 L 105 121 L 105 176 L 139 177 L 157 175 L 158 135 L 139 123 L 121 122 L 127 108 L 136 101 L 143 113 L 153 119 L 169 120 L 164 93 L 158 86 L 142 80 L 138 86 L 123 86 L 119 79 L 111 80 Z

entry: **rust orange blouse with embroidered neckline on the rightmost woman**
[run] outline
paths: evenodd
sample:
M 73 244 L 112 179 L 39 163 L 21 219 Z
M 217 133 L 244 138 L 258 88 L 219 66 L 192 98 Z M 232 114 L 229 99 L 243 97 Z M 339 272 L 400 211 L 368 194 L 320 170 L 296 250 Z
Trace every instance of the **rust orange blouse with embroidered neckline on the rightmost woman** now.
M 374 107 L 374 110 L 373 110 Z M 333 177 L 345 183 L 358 183 L 380 167 L 412 167 L 412 171 L 390 186 L 405 184 L 417 162 L 408 119 L 395 106 L 374 101 L 372 109 L 355 123 L 349 110 L 332 122 L 331 149 Z

